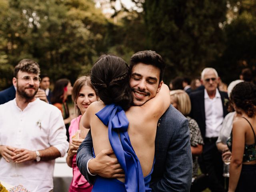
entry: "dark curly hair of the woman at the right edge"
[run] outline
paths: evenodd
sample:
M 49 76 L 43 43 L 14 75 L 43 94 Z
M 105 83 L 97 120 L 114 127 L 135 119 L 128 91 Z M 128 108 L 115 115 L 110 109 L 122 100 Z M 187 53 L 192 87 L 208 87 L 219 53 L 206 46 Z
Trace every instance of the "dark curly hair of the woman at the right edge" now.
M 230 94 L 230 100 L 236 107 L 252 117 L 256 114 L 256 86 L 250 82 L 238 83 Z

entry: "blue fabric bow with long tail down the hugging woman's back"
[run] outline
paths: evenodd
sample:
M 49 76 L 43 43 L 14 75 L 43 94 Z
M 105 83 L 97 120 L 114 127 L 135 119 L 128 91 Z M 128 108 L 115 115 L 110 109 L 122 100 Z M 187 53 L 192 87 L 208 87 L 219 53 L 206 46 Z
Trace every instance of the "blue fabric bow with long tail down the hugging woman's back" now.
M 127 132 L 129 122 L 124 110 L 116 104 L 110 104 L 96 113 L 96 116 L 108 126 L 110 145 L 125 173 L 126 191 L 145 192 L 142 168 L 130 142 Z

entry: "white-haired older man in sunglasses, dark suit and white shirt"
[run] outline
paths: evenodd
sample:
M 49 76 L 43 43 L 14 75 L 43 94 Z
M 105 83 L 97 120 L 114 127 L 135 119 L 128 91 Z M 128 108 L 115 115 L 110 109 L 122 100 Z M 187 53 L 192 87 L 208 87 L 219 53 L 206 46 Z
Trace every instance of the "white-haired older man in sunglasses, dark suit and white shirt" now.
M 214 68 L 205 68 L 201 74 L 204 90 L 190 94 L 190 116 L 196 120 L 204 138 L 204 146 L 199 164 L 202 172 L 209 175 L 212 192 L 224 192 L 223 162 L 216 147 L 216 140 L 226 116 L 228 94 L 218 90 L 219 76 Z

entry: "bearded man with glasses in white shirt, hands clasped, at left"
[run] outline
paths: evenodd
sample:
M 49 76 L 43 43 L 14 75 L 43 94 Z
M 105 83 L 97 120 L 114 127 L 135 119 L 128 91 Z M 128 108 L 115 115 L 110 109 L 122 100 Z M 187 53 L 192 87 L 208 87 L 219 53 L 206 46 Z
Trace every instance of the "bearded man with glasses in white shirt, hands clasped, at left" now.
M 30 191 L 53 189 L 55 158 L 68 150 L 58 108 L 36 98 L 39 65 L 24 59 L 14 68 L 16 98 L 0 105 L 0 178 Z

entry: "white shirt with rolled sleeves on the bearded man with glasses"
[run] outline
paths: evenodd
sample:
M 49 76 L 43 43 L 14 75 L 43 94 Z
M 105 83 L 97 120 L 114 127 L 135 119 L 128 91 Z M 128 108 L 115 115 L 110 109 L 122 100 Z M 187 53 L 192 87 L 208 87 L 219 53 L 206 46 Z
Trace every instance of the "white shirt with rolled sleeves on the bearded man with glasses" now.
M 0 105 L 0 145 L 44 150 L 56 147 L 63 157 L 68 150 L 66 128 L 58 108 L 36 99 L 22 111 L 16 99 Z M 49 192 L 53 188 L 55 160 L 14 163 L 0 156 L 0 178 L 11 184 L 22 184 L 28 190 Z

